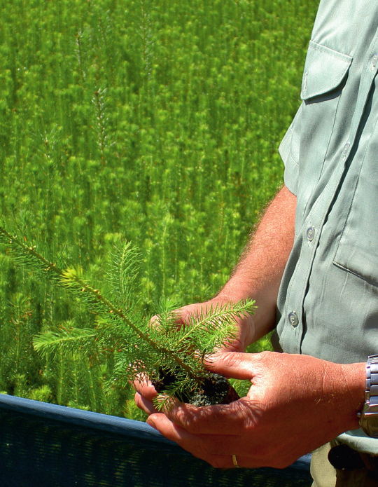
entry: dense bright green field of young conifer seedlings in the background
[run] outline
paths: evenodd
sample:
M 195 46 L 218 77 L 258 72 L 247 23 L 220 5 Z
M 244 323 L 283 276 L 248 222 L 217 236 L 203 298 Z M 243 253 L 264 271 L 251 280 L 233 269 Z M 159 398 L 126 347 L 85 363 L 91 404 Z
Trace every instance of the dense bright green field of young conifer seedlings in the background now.
M 153 315 L 214 296 L 282 184 L 316 0 L 0 0 L 0 212 L 102 289 L 139 249 Z M 141 418 L 112 360 L 33 337 L 94 315 L 0 247 L 0 392 Z M 269 346 L 265 340 L 255 350 Z

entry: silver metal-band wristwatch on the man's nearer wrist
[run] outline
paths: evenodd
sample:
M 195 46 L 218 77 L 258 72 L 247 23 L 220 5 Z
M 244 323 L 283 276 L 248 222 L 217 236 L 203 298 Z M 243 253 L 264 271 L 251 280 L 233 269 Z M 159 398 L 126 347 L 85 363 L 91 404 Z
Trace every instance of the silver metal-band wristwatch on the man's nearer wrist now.
M 378 438 L 378 355 L 367 358 L 365 404 L 357 416 L 361 430 L 369 437 Z

